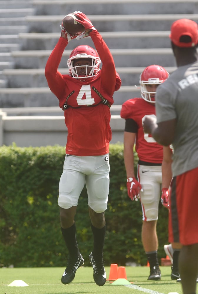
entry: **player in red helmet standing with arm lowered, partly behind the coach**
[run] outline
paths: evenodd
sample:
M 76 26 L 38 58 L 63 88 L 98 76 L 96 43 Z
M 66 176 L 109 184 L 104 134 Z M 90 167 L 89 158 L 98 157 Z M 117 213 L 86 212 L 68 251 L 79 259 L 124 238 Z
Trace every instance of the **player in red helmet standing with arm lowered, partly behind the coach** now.
M 162 184 L 163 147 L 152 136 L 144 134 L 142 120 L 147 115 L 155 117 L 156 89 L 168 77 L 169 73 L 162 66 L 147 66 L 140 75 L 142 98 L 124 102 L 120 114 L 125 119 L 124 164 L 128 196 L 136 201 L 140 198 L 142 205 L 142 243 L 150 265 L 148 280 L 161 279 L 156 225 Z M 139 157 L 138 181 L 134 174 L 134 145 Z

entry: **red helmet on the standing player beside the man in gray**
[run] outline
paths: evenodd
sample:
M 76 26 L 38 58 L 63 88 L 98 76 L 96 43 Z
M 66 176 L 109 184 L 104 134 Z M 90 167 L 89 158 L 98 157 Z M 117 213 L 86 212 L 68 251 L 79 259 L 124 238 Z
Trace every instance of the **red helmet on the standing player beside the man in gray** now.
M 156 91 L 148 91 L 146 85 L 162 84 L 168 77 L 169 73 L 162 66 L 155 64 L 147 66 L 139 77 L 142 98 L 151 103 L 155 103 L 155 101 L 152 101 L 151 96 L 154 96 Z

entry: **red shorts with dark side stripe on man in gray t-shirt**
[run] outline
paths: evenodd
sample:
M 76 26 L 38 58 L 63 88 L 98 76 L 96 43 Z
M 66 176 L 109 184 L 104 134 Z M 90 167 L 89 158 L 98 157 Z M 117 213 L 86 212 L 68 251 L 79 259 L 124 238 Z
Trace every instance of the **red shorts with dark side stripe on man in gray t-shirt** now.
M 173 178 L 169 203 L 169 242 L 198 243 L 198 168 Z

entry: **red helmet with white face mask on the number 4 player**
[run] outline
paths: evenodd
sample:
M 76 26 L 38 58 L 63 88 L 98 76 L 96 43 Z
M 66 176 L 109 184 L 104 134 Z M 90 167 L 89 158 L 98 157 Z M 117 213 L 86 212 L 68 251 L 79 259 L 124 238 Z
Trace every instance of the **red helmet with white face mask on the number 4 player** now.
M 78 76 L 76 68 L 78 66 L 74 66 L 74 59 L 77 58 L 90 58 L 92 60 L 92 69 L 87 74 L 87 65 L 86 66 L 86 74 L 83 76 L 84 78 L 89 78 L 90 76 L 95 76 L 99 69 L 99 65 L 101 63 L 101 60 L 99 58 L 98 53 L 93 48 L 87 46 L 87 45 L 80 45 L 76 47 L 70 54 L 69 59 L 67 60 L 67 65 L 69 67 L 69 75 L 73 78 L 82 78 L 82 76 Z M 89 66 L 90 67 L 90 66 Z

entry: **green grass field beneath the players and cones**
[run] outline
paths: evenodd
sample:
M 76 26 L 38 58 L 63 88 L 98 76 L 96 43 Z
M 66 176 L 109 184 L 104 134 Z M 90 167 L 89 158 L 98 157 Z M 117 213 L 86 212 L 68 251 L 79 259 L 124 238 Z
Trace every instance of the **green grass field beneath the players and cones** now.
M 108 279 L 110 267 L 105 269 Z M 91 267 L 79 268 L 75 279 L 69 285 L 61 283 L 65 268 L 0 268 L 0 294 L 182 294 L 181 284 L 170 278 L 170 266 L 161 266 L 161 281 L 147 281 L 149 267 L 126 266 L 125 269 L 130 285 L 114 285 L 107 281 L 104 286 L 99 287 L 94 282 Z M 29 286 L 8 286 L 14 280 L 22 280 Z

